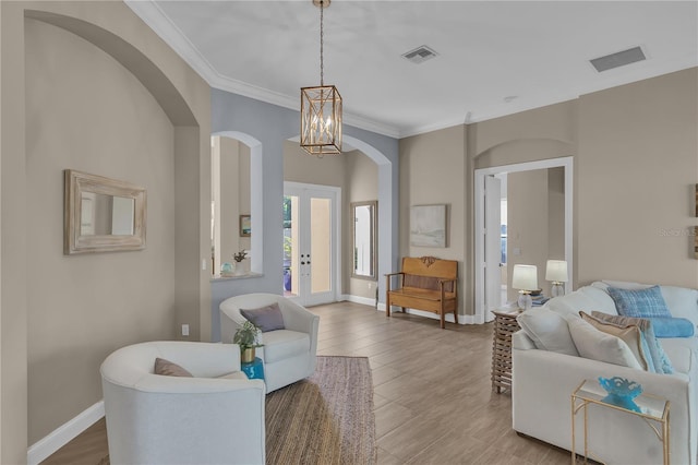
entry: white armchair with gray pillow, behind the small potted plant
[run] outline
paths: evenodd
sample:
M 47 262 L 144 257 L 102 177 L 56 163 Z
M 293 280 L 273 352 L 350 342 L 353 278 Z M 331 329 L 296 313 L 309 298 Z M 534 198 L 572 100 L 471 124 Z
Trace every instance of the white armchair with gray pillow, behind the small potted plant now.
M 320 317 L 292 300 L 276 294 L 244 294 L 220 303 L 220 335 L 224 343 L 232 342 L 238 327 L 245 322 L 241 309 L 251 310 L 278 303 L 285 330 L 262 333 L 264 347 L 256 353 L 264 360 L 266 391 L 272 392 L 308 378 L 315 372 L 317 325 Z

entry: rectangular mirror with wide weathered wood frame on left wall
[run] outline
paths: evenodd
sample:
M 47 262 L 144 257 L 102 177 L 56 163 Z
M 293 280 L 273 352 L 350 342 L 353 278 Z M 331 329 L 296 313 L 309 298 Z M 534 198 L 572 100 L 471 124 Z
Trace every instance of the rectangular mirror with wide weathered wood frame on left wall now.
M 145 248 L 144 188 L 74 169 L 64 182 L 64 254 Z

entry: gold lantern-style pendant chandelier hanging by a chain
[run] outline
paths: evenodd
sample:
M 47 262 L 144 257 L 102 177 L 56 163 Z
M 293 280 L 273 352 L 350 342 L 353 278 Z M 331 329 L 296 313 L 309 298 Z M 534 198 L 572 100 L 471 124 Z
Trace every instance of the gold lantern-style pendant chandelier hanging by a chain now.
M 320 86 L 301 87 L 301 147 L 322 157 L 341 153 L 341 96 L 323 80 L 323 11 L 330 0 L 312 1 L 320 8 Z

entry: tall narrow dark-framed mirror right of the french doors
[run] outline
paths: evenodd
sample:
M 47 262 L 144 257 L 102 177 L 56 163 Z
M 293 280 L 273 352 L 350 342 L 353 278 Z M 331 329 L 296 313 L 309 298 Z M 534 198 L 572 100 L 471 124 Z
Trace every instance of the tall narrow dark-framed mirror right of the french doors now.
M 378 202 L 351 203 L 351 277 L 376 279 Z

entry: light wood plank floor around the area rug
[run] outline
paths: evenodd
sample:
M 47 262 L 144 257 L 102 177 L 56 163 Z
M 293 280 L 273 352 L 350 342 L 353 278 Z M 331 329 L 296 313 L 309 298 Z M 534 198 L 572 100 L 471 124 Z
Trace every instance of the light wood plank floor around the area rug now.
M 310 308 L 318 355 L 369 357 L 378 464 L 568 464 L 567 452 L 518 437 L 512 397 L 491 389 L 492 324 L 446 324 L 339 302 Z M 44 464 L 95 465 L 104 419 Z

